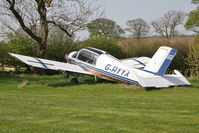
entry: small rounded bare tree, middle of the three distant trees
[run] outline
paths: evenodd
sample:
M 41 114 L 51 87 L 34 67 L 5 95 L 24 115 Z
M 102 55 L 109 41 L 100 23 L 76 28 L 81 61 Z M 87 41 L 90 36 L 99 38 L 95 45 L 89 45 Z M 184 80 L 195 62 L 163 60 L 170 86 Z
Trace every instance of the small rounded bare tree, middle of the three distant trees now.
M 146 36 L 150 31 L 150 26 L 141 18 L 128 20 L 126 25 L 128 26 L 126 30 L 133 33 L 137 39 Z

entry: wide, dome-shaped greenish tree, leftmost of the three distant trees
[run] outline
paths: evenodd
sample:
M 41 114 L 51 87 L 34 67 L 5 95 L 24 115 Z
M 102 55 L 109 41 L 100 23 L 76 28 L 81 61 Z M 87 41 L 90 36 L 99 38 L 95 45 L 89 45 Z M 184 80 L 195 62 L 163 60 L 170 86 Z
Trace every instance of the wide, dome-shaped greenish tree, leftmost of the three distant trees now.
M 98 18 L 87 24 L 91 37 L 108 36 L 121 37 L 124 30 L 113 20 L 107 18 Z

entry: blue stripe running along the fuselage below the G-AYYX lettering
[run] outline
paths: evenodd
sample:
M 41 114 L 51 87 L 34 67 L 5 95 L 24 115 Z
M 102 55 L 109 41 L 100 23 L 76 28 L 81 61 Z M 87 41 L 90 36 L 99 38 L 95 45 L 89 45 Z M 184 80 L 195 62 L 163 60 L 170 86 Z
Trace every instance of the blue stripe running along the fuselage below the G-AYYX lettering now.
M 122 80 L 122 81 L 125 81 L 125 82 L 138 84 L 138 82 L 135 81 L 135 80 L 131 80 L 131 79 L 128 79 L 128 78 L 125 78 L 125 77 L 122 77 L 122 76 L 118 76 L 118 75 L 113 74 L 113 73 L 110 73 L 110 72 L 106 72 L 106 71 L 104 71 L 104 70 L 95 68 L 95 67 L 93 67 L 93 66 L 84 64 L 84 63 L 82 63 L 82 62 L 78 62 L 78 61 L 75 61 L 75 60 L 73 60 L 73 59 L 70 59 L 70 61 L 73 62 L 73 63 L 75 63 L 75 64 L 77 64 L 77 65 L 80 65 L 80 66 L 82 66 L 82 67 L 89 68 L 89 69 L 91 69 L 91 70 L 94 70 L 94 71 L 96 71 L 96 72 L 99 72 L 99 73 L 101 73 L 101 74 L 105 74 L 105 75 L 107 75 L 107 76 L 110 76 L 110 77 L 113 77 L 113 78 L 116 78 L 116 79 L 119 79 L 119 80 Z

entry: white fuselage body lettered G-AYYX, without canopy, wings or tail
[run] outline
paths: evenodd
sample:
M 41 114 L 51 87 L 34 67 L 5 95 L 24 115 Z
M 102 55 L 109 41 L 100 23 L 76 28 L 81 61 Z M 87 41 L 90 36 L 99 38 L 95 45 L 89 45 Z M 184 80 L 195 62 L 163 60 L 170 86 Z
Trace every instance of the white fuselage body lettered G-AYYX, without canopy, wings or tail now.
M 93 75 L 115 80 L 117 82 L 138 84 L 138 79 L 135 75 L 134 69 L 125 65 L 110 54 L 99 55 L 95 64 L 89 64 L 85 61 L 81 61 L 77 57 L 73 58 L 73 54 L 75 53 L 73 52 L 68 56 L 69 63 L 76 64 L 91 72 Z

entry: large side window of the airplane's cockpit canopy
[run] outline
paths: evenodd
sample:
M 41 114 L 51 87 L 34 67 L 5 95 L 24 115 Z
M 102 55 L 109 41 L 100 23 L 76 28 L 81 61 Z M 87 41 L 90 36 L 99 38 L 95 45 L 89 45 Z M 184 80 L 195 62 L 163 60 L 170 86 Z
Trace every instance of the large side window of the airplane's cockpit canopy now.
M 98 55 L 94 54 L 92 52 L 89 52 L 87 50 L 81 50 L 79 51 L 78 58 L 79 60 L 89 63 L 89 64 L 96 64 L 96 59 Z

